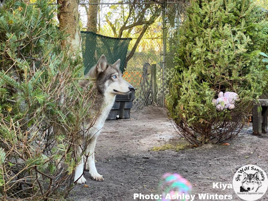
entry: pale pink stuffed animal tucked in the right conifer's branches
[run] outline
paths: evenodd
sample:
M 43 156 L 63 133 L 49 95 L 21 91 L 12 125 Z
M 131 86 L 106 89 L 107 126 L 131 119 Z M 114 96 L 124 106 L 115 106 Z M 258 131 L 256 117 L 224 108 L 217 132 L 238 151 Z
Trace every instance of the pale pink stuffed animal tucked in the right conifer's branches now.
M 219 92 L 218 97 L 219 98 L 212 100 L 218 111 L 222 111 L 224 109 L 232 110 L 235 108 L 235 101 L 238 98 L 237 93 L 226 91 L 223 94 L 223 92 Z

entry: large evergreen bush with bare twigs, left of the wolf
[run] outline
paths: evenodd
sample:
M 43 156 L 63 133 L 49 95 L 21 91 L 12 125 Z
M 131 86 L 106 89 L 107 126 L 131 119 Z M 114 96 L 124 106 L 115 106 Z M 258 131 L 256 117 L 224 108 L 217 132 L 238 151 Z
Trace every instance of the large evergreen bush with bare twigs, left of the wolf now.
M 60 46 L 56 12 L 44 0 L 0 9 L 1 200 L 55 200 L 73 187 L 73 146 L 91 115 L 90 93 L 78 87 L 82 59 Z

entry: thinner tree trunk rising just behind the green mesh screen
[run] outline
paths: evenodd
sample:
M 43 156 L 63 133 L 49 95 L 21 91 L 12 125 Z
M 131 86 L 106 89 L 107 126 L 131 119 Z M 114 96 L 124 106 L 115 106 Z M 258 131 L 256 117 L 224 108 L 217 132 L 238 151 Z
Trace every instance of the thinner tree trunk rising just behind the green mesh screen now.
M 89 3 L 98 3 L 99 0 L 89 0 Z M 87 13 L 87 31 L 97 33 L 98 4 L 91 4 Z

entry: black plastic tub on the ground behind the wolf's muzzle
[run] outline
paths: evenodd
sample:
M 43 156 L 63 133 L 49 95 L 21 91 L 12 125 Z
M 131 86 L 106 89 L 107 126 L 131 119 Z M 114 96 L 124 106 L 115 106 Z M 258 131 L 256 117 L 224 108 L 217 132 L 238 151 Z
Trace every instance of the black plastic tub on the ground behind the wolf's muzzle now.
M 116 95 L 116 101 L 107 117 L 107 120 L 127 119 L 135 99 L 135 90 L 127 95 Z

